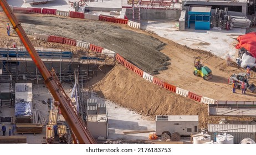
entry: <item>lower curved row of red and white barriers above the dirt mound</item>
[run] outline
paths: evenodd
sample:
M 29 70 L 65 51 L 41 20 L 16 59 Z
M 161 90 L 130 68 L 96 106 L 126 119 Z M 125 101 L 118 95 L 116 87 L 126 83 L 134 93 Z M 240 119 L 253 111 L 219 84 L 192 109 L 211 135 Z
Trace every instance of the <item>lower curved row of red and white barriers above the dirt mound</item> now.
M 122 65 L 124 65 L 126 68 L 134 71 L 137 75 L 143 77 L 145 80 L 152 82 L 153 84 L 156 84 L 160 87 L 165 88 L 168 91 L 175 92 L 178 95 L 188 97 L 194 101 L 201 102 L 203 104 L 216 104 L 216 100 L 209 99 L 208 97 L 200 96 L 197 94 L 194 94 L 191 91 L 187 91 L 184 89 L 181 89 L 180 87 L 173 86 L 171 84 L 168 84 L 165 81 L 162 81 L 158 79 L 157 77 L 154 77 L 150 75 L 149 73 L 146 73 L 145 71 L 141 70 L 131 62 L 125 60 L 120 54 L 115 53 L 115 51 L 111 51 L 109 49 L 102 48 L 101 46 L 97 46 L 91 43 L 82 42 L 79 40 L 73 40 L 69 38 L 64 37 L 58 37 L 54 35 L 45 35 L 45 34 L 37 34 L 34 33 L 34 39 L 38 40 L 44 40 L 47 42 L 54 42 L 54 43 L 60 43 L 60 44 L 68 44 L 73 46 L 80 46 L 81 48 L 89 49 L 90 51 L 95 51 L 96 53 L 103 53 L 110 57 L 115 57 L 115 59 Z

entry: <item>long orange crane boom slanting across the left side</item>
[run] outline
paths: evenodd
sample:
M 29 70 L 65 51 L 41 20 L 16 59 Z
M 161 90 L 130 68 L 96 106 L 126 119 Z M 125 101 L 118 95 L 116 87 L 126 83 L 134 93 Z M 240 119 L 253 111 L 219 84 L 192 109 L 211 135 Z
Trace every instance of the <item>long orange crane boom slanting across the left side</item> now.
M 6 0 L 0 0 L 0 5 L 3 8 L 3 11 L 6 14 L 7 18 L 13 25 L 14 30 L 16 30 L 23 45 L 27 49 L 30 57 L 34 61 L 35 66 L 37 66 L 38 70 L 42 74 L 45 85 L 48 87 L 49 91 L 54 97 L 54 105 L 59 106 L 60 110 L 62 111 L 62 115 L 65 118 L 65 121 L 68 123 L 68 126 L 73 132 L 72 137 L 74 143 L 76 143 L 76 141 L 81 144 L 96 143 L 93 136 L 91 136 L 88 128 L 85 126 L 85 123 L 83 122 L 83 120 L 81 120 L 81 117 L 76 114 L 74 105 L 72 104 L 68 95 L 65 94 L 65 91 L 63 90 L 63 87 L 60 84 L 59 80 L 54 77 L 54 74 L 49 72 L 43 61 L 40 59 L 33 44 L 30 42 L 27 34 L 24 32 L 21 24 L 18 22 L 18 19 L 12 12 L 12 9 L 9 7 L 9 4 L 6 2 Z

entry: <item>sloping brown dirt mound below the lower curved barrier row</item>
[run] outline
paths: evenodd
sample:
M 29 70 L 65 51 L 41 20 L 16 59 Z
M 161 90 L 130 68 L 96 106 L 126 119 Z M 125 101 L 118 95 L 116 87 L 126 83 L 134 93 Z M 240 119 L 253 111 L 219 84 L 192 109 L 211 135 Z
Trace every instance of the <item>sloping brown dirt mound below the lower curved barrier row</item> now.
M 116 65 L 93 90 L 153 118 L 155 115 L 199 115 L 200 127 L 206 127 L 208 122 L 207 105 L 160 88 L 122 65 Z

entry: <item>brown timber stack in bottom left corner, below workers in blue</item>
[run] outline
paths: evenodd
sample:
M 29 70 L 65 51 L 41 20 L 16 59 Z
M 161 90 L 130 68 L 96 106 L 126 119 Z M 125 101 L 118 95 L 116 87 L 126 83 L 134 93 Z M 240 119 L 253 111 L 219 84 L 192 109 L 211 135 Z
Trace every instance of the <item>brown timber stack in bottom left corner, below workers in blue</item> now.
M 27 143 L 26 136 L 1 136 L 1 144 Z

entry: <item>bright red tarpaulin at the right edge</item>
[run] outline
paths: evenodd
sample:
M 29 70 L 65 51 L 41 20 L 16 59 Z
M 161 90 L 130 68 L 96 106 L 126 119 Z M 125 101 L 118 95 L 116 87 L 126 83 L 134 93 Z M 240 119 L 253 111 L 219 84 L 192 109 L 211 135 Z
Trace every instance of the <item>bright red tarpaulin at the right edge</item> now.
M 256 32 L 247 33 L 237 37 L 238 44 L 235 48 L 245 48 L 249 53 L 256 58 Z

